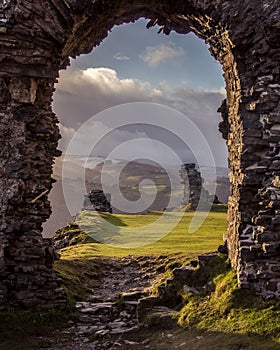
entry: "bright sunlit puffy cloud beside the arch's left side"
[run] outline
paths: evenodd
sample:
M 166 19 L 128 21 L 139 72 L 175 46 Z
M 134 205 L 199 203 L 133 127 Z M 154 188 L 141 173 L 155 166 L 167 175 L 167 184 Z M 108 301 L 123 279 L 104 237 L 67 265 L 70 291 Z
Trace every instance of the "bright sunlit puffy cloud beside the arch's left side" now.
M 150 101 L 161 96 L 148 82 L 121 79 L 110 68 L 74 67 L 61 71 L 54 96 L 54 111 L 63 125 L 77 127 L 109 107 L 129 102 Z

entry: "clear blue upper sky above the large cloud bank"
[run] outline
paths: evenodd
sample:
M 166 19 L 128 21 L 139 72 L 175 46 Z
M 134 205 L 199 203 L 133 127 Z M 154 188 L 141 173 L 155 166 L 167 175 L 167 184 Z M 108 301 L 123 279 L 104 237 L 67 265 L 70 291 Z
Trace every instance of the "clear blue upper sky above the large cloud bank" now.
M 219 90 L 225 85 L 221 65 L 210 55 L 207 45 L 193 33 L 169 36 L 157 34 L 158 27 L 146 29 L 146 20 L 115 26 L 108 37 L 91 54 L 73 61 L 75 67 L 108 67 L 120 78 L 146 80 L 152 84 L 167 81 L 170 86 L 187 84 L 193 89 Z M 177 57 L 150 66 L 143 60 L 147 47 L 173 45 Z

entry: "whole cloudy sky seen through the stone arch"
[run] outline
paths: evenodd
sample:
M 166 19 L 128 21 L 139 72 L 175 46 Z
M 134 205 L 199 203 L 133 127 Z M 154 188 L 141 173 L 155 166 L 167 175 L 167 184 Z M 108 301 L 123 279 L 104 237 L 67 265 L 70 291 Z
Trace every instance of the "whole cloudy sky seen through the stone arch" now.
M 115 26 L 90 54 L 72 60 L 60 72 L 53 102 L 60 120 L 60 149 L 66 150 L 79 127 L 92 116 L 123 103 L 149 102 L 190 118 L 206 138 L 215 164 L 226 167 L 226 143 L 218 131 L 221 117 L 217 109 L 225 98 L 220 64 L 194 34 L 166 36 L 157 34 L 156 27 L 145 26 L 144 19 Z M 107 121 L 99 120 L 93 132 L 106 134 L 107 129 L 109 132 Z M 93 153 L 106 157 L 119 144 L 140 137 L 167 144 L 182 162 L 193 161 L 192 152 L 178 136 L 143 124 L 141 119 L 110 131 Z M 151 147 L 150 142 L 146 144 Z M 145 144 L 143 148 L 145 153 Z M 158 156 L 164 158 L 162 153 Z

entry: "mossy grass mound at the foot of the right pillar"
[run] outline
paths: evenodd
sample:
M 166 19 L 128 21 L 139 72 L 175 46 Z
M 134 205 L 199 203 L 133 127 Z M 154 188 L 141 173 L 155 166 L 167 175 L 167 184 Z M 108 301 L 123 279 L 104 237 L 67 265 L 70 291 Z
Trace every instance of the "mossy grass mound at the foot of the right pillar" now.
M 223 268 L 220 261 L 220 267 Z M 179 324 L 203 331 L 226 334 L 254 334 L 280 341 L 280 302 L 264 301 L 238 288 L 236 274 L 224 265 L 224 272 L 211 277 L 208 295 L 183 295 L 185 306 L 178 313 Z M 278 339 L 278 340 L 277 340 Z

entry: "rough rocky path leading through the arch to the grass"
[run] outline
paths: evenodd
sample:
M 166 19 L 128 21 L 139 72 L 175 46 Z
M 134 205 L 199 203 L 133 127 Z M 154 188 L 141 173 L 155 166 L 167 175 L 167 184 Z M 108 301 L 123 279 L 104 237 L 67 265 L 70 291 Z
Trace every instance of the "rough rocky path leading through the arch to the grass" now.
M 137 303 L 147 297 L 151 285 L 164 272 L 167 257 L 100 258 L 103 277 L 88 300 L 76 304 L 77 317 L 69 326 L 45 339 L 49 350 L 149 349 L 149 339 L 131 340 L 140 327 Z

